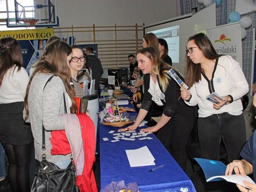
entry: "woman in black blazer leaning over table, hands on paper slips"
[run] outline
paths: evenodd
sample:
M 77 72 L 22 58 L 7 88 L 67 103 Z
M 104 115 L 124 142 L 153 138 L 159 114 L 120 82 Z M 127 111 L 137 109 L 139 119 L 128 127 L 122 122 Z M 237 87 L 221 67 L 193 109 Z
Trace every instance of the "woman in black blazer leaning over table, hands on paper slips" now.
M 186 169 L 186 146 L 196 119 L 196 108 L 188 107 L 180 99 L 179 85 L 167 74 L 172 68 L 164 63 L 159 52 L 152 47 L 139 50 L 138 67 L 144 74 L 145 93 L 136 122 L 120 131 L 135 130 L 143 121 L 154 101 L 163 106 L 163 114 L 155 126 L 141 129 L 156 132 L 165 148 L 171 152 L 179 165 Z

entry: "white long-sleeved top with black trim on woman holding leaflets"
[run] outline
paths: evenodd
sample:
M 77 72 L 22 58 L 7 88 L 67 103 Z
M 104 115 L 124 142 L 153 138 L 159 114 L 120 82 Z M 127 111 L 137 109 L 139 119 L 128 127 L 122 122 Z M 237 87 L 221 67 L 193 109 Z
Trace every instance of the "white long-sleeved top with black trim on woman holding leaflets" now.
M 240 115 L 242 113 L 242 102 L 240 100 L 249 91 L 245 75 L 237 61 L 231 56 L 221 56 L 213 76 L 213 88 L 220 96 L 231 95 L 234 101 L 224 105 L 219 110 L 213 109 L 213 103 L 206 99 L 210 94 L 209 83 L 201 74 L 201 81 L 194 83 L 190 88 L 192 98 L 190 106 L 198 104 L 199 117 L 208 117 L 212 114 L 228 112 L 231 115 Z

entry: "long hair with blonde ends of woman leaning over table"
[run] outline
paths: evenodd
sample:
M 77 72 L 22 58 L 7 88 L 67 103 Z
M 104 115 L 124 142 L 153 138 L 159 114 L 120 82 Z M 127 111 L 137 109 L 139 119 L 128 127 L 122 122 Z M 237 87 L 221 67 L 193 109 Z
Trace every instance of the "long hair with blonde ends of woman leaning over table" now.
M 160 59 L 159 52 L 153 47 L 146 47 L 137 52 L 145 55 L 147 58 L 152 61 L 152 73 L 158 75 L 159 83 L 162 86 L 163 91 L 166 91 L 166 88 L 169 84 L 168 80 L 170 76 L 167 72 L 172 68 L 170 65 L 166 64 L 162 59 Z

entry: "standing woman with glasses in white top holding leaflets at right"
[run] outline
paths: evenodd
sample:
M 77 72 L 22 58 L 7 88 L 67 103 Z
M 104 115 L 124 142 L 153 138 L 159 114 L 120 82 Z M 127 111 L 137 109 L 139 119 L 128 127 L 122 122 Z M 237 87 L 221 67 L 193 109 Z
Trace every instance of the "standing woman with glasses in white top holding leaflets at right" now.
M 240 100 L 248 92 L 245 75 L 231 56 L 217 54 L 203 33 L 189 38 L 186 53 L 185 79 L 189 90 L 181 89 L 181 97 L 187 105 L 199 106 L 198 138 L 202 157 L 219 160 L 222 140 L 232 162 L 246 141 Z M 207 100 L 212 92 L 223 100 Z

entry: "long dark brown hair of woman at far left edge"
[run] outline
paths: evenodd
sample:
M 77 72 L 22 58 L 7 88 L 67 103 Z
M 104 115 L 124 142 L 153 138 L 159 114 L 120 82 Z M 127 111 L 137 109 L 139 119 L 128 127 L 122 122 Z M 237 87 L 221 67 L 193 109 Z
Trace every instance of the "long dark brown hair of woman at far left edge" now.
M 22 67 L 23 58 L 20 46 L 16 39 L 12 37 L 5 37 L 0 39 L 0 86 L 2 85 L 4 75 L 13 67 L 13 72 L 16 67 L 18 71 Z

